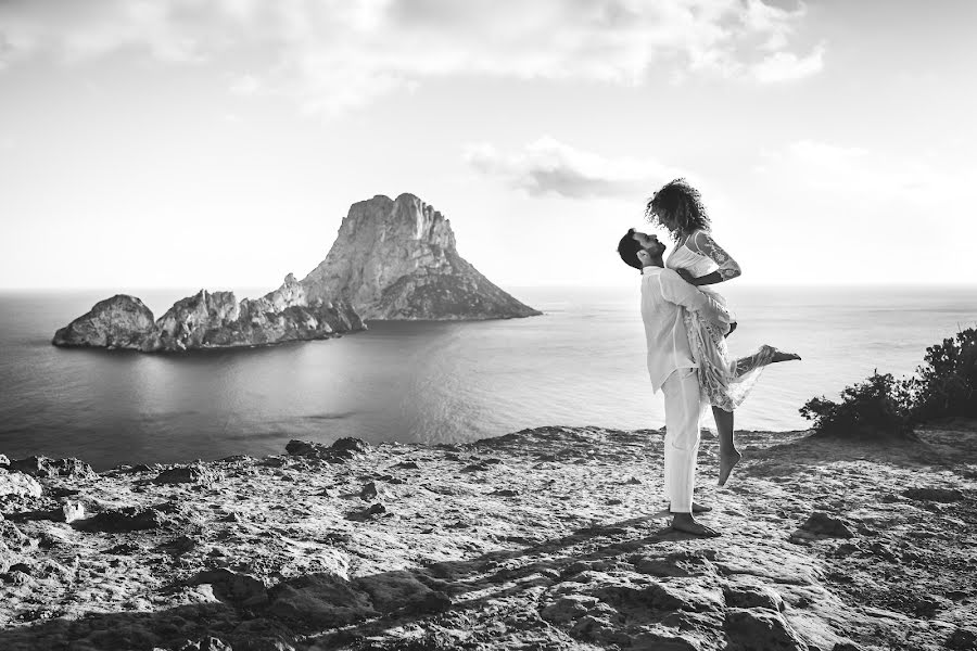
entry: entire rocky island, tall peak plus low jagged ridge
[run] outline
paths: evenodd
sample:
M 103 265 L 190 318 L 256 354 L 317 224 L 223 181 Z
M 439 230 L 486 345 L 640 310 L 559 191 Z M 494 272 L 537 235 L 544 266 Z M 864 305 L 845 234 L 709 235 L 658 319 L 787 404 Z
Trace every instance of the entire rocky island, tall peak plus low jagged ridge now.
M 413 194 L 353 204 L 335 243 L 304 280 L 261 298 L 207 292 L 158 320 L 118 294 L 60 329 L 55 346 L 143 353 L 262 346 L 364 330 L 364 319 L 506 319 L 540 315 L 466 261 L 441 213 Z

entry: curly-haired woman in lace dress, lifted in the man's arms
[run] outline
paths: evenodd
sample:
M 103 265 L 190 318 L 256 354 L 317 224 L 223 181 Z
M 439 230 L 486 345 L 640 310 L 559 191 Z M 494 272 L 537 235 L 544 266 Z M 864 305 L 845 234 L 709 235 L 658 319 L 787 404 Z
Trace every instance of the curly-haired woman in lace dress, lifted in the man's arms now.
M 685 179 L 675 179 L 648 201 L 645 216 L 651 224 L 668 230 L 675 241 L 665 267 L 674 269 L 686 282 L 728 309 L 725 298 L 706 285 L 732 280 L 741 271 L 736 260 L 712 239 L 709 215 L 699 192 Z M 720 438 L 719 485 L 722 486 L 743 458 L 733 441 L 733 410 L 746 399 L 763 367 L 800 359 L 800 356 L 764 345 L 749 357 L 731 359 L 725 337 L 736 327 L 735 323 L 729 328 L 695 314 L 686 314 L 685 323 L 693 355 L 699 365 L 702 398 L 712 406 Z

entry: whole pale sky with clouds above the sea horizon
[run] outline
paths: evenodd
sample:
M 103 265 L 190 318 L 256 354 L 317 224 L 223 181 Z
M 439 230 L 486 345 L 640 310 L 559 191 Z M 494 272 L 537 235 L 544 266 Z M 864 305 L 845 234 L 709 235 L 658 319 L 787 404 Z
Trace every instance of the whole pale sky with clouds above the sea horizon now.
M 737 283 L 974 282 L 975 34 L 969 0 L 0 0 L 0 288 L 270 290 L 404 192 L 497 284 L 619 285 L 680 176 Z

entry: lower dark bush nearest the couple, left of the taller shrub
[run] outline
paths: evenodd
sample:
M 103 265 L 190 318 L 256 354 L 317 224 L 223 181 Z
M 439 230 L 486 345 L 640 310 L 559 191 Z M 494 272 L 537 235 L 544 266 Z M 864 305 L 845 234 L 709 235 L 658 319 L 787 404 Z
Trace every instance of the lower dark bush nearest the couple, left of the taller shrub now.
M 846 386 L 841 401 L 822 396 L 811 398 L 800 413 L 814 421 L 815 434 L 858 438 L 912 436 L 912 400 L 904 382 L 891 374 L 879 374 Z

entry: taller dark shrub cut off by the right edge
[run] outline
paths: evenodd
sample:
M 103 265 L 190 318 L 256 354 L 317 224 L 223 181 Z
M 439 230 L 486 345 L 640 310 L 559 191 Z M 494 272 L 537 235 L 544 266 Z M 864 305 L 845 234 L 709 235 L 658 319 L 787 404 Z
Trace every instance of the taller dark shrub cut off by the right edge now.
M 977 418 L 977 330 L 962 330 L 926 348 L 923 361 L 908 382 L 913 418 Z

